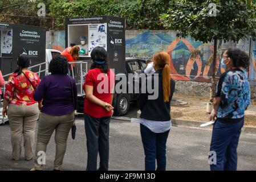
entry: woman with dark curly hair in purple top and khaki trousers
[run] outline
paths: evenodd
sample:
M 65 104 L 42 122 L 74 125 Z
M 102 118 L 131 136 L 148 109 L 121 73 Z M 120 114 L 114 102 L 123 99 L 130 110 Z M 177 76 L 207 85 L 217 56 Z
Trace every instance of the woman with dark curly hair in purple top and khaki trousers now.
M 55 130 L 56 155 L 54 170 L 60 170 L 66 152 L 67 137 L 75 121 L 77 90 L 75 80 L 68 76 L 68 62 L 63 56 L 54 57 L 49 66 L 51 75 L 45 76 L 34 93 L 34 100 L 43 100 L 38 122 L 36 158 L 31 171 L 42 170 L 47 144 Z

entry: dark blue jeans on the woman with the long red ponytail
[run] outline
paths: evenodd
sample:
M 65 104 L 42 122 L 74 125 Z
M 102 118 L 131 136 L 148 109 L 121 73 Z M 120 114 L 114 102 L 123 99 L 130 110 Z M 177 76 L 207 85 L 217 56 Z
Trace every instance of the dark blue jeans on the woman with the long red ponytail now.
M 169 131 L 153 133 L 146 126 L 140 124 L 140 134 L 145 153 L 145 171 L 165 171 L 166 141 Z

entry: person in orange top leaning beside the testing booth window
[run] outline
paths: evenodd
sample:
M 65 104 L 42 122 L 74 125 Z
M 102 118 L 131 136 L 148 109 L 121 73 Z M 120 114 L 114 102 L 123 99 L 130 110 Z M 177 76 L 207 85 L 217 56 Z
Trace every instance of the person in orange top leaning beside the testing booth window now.
M 75 62 L 75 60 L 78 59 L 79 51 L 80 51 L 80 48 L 78 46 L 67 47 L 62 52 L 62 56 L 66 57 L 68 63 L 72 63 L 72 62 Z M 70 72 L 72 72 L 72 67 L 75 67 L 75 65 L 71 64 Z M 70 73 L 68 73 L 68 74 L 70 75 Z

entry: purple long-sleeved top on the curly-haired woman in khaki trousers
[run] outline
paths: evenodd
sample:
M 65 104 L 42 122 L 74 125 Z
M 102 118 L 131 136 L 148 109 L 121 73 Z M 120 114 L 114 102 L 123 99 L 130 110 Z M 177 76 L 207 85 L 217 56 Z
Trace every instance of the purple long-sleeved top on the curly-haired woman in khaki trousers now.
M 74 93 L 73 97 L 72 89 Z M 66 115 L 74 111 L 77 94 L 74 78 L 68 75 L 56 74 L 43 77 L 33 97 L 35 101 L 43 99 L 42 113 L 48 115 Z

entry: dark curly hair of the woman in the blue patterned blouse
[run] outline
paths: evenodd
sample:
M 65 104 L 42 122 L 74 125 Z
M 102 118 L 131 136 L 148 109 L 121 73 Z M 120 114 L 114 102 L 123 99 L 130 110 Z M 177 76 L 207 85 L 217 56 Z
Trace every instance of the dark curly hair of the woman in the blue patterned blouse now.
M 249 56 L 245 51 L 238 48 L 229 48 L 226 50 L 227 57 L 230 57 L 235 67 L 247 69 L 249 67 Z

